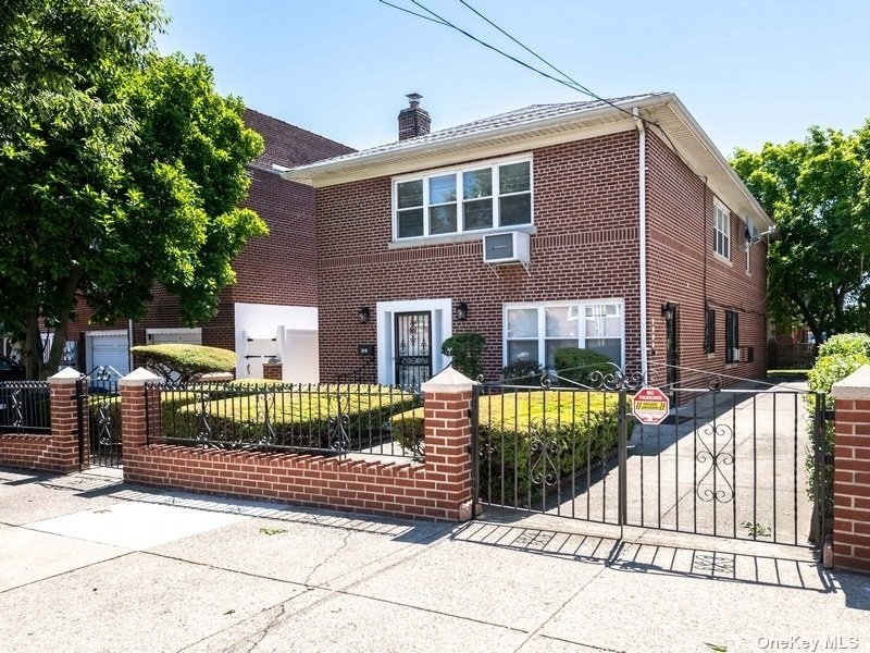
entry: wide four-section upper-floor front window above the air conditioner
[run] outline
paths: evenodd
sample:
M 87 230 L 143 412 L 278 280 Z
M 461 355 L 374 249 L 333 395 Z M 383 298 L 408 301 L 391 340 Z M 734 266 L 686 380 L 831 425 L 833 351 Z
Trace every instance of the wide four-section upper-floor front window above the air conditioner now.
M 532 223 L 531 159 L 395 181 L 395 239 Z

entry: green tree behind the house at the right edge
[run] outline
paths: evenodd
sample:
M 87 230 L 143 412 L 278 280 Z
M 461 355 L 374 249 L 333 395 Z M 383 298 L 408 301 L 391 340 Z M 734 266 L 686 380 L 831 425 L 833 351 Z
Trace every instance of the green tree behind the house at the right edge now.
M 768 310 L 822 334 L 870 319 L 870 121 L 852 134 L 811 127 L 803 141 L 738 149 L 732 165 L 776 225 Z

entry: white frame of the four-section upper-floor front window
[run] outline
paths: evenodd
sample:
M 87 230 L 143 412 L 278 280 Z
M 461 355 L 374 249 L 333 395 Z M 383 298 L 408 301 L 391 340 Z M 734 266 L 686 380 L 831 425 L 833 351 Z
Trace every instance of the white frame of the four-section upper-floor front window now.
M 518 193 L 506 193 L 501 195 L 499 193 L 499 177 L 498 177 L 498 169 L 500 165 L 510 165 L 512 163 L 529 163 L 529 190 L 521 190 Z M 493 200 L 493 226 L 489 229 L 472 229 L 465 230 L 464 224 L 464 202 L 467 200 L 463 199 L 463 173 L 465 172 L 473 172 L 475 170 L 483 170 L 483 169 L 490 169 L 493 175 L 493 194 L 489 196 Z M 529 229 L 535 223 L 535 180 L 534 180 L 534 161 L 531 153 L 522 155 L 522 156 L 513 156 L 513 157 L 504 157 L 500 159 L 487 159 L 485 161 L 476 161 L 474 163 L 465 163 L 463 165 L 452 165 L 450 168 L 439 168 L 436 170 L 427 170 L 425 172 L 418 172 L 414 174 L 406 174 L 401 176 L 393 177 L 393 193 L 391 193 L 391 211 L 393 211 L 393 242 L 394 243 L 413 243 L 413 242 L 421 242 L 434 238 L 440 238 L 444 236 L 458 236 L 458 235 L 476 235 L 480 234 L 483 238 L 484 234 L 489 234 L 493 232 L 505 232 L 505 231 L 517 231 Z M 445 232 L 440 234 L 431 234 L 430 233 L 430 192 L 428 192 L 428 181 L 432 177 L 444 176 L 447 174 L 455 174 L 456 180 L 456 222 L 457 229 L 453 232 Z M 398 197 L 398 189 L 399 184 L 403 184 L 407 182 L 415 182 L 422 181 L 423 182 L 423 235 L 422 236 L 409 236 L 409 237 L 399 237 L 399 221 L 398 221 L 398 205 L 399 205 L 399 197 Z M 499 214 L 500 202 L 498 201 L 502 197 L 513 197 L 519 195 L 525 195 L 529 193 L 529 222 L 524 222 L 522 224 L 511 224 L 507 226 L 500 226 L 501 215 Z M 486 198 L 480 198 L 486 199 Z M 473 200 L 468 200 L 473 201 Z M 446 204 L 452 202 L 443 202 L 435 206 L 445 206 Z

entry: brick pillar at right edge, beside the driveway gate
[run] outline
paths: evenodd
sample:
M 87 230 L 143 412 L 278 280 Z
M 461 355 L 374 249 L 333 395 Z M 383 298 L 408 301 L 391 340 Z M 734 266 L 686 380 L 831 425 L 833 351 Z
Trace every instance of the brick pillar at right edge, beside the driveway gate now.
M 834 383 L 834 567 L 870 572 L 870 366 Z

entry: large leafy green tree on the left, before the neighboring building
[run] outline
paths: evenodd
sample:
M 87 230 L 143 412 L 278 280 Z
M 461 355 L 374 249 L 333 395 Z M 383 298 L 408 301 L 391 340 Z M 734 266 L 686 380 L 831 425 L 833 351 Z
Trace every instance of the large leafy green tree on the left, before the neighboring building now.
M 0 322 L 28 377 L 57 369 L 77 300 L 139 319 L 159 282 L 186 322 L 211 317 L 266 233 L 239 208 L 262 150 L 241 101 L 201 58 L 157 53 L 156 0 L 0 4 Z

